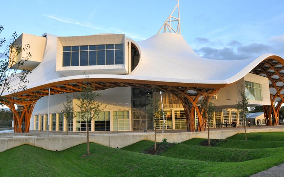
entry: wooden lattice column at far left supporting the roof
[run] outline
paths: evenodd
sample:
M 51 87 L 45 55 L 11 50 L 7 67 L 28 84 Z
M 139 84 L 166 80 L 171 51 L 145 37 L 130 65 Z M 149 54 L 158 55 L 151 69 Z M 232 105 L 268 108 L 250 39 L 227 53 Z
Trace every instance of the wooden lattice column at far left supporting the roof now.
M 30 131 L 30 120 L 32 116 L 32 111 L 37 102 L 37 99 L 33 100 L 12 100 L 12 99 L 7 99 L 7 102 L 4 104 L 9 107 L 13 113 L 13 118 L 14 118 L 14 132 L 17 133 L 22 133 L 22 122 L 25 120 L 25 128 L 24 132 L 29 132 Z M 22 105 L 23 110 L 20 113 L 16 107 L 15 104 Z

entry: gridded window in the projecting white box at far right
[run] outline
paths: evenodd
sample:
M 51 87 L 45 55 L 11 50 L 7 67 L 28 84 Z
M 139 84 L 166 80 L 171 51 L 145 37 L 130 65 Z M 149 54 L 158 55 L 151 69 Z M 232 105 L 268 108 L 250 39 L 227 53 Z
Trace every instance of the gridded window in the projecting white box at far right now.
M 250 100 L 262 101 L 261 84 L 245 81 L 245 91 Z

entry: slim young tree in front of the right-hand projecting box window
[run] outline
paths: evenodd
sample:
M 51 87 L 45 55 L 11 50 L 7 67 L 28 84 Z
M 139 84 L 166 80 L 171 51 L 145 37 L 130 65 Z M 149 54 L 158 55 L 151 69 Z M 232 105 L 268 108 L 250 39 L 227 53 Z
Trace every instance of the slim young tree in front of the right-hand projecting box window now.
M 243 85 L 241 87 L 244 88 Z M 247 132 L 246 132 L 246 125 L 247 125 L 246 122 L 247 121 L 246 121 L 246 118 L 247 118 L 247 113 L 248 113 L 248 110 L 247 110 L 248 98 L 246 96 L 244 89 L 239 90 L 239 93 L 240 93 L 242 99 L 241 99 L 241 101 L 237 101 L 237 110 L 242 115 L 242 119 L 243 119 L 243 122 L 244 122 L 243 126 L 244 126 L 244 129 L 245 129 L 245 139 L 247 140 Z

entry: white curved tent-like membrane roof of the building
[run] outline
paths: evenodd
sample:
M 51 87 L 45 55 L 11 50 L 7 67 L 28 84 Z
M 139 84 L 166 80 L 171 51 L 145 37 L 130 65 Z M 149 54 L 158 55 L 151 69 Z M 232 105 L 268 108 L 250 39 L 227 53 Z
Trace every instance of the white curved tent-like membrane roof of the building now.
M 42 62 L 27 75 L 27 89 L 58 81 L 84 79 L 85 75 L 60 77 L 55 70 L 57 36 L 46 34 L 47 44 Z M 161 33 L 136 42 L 140 61 L 128 75 L 90 74 L 89 78 L 134 79 L 191 84 L 231 84 L 249 73 L 272 53 L 245 60 L 213 60 L 200 57 L 174 33 Z M 11 84 L 12 85 L 12 84 Z M 8 93 L 7 93 L 8 94 Z

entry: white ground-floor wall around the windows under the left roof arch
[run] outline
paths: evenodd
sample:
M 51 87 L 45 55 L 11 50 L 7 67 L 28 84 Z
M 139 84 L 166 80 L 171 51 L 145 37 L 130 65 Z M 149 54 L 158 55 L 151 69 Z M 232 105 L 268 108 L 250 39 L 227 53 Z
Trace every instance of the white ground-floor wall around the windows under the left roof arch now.
M 102 105 L 104 107 L 106 104 L 109 104 L 105 111 L 110 111 L 110 131 L 113 130 L 113 111 L 129 111 L 129 130 L 131 131 L 131 87 L 118 87 L 111 88 L 102 91 L 98 91 L 101 93 L 101 97 L 97 98 L 96 101 L 105 103 Z M 62 112 L 63 103 L 66 103 L 66 95 L 69 95 L 71 99 L 73 99 L 73 107 L 74 111 L 79 111 L 76 104 L 78 104 L 78 100 L 76 99 L 80 93 L 66 93 L 66 94 L 56 94 L 50 96 L 50 114 L 56 114 L 56 131 L 58 131 L 58 116 L 60 112 Z M 39 114 L 47 114 L 48 113 L 48 96 L 42 97 L 37 101 L 35 108 L 31 117 L 31 125 L 30 130 L 35 129 L 35 115 Z M 64 121 L 65 122 L 65 121 Z M 39 124 L 40 125 L 40 124 Z M 51 127 L 51 119 L 49 122 Z M 94 131 L 94 121 L 92 121 L 92 131 Z M 63 126 L 64 131 L 66 131 L 66 123 Z M 51 130 L 51 129 L 50 129 Z M 76 131 L 76 118 L 73 119 L 73 131 Z

